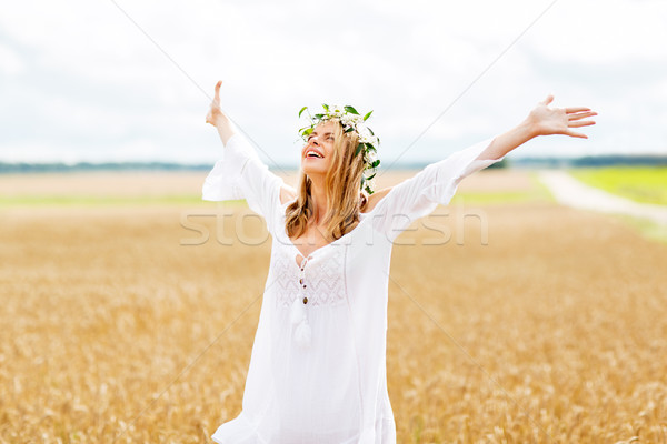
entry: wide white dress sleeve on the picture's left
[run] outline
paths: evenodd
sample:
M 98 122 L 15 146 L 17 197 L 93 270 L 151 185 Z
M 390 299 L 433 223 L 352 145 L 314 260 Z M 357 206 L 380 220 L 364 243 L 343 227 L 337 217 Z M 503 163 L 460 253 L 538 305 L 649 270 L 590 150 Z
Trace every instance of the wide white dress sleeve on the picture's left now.
M 205 201 L 246 199 L 252 211 L 270 222 L 282 183 L 282 179 L 261 162 L 250 143 L 236 133 L 207 175 L 201 194 Z

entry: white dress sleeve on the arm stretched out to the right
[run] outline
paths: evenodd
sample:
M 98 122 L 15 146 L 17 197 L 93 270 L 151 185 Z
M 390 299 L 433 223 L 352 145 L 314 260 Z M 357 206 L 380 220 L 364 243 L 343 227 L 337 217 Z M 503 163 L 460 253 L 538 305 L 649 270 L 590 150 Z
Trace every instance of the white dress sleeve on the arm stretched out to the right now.
M 394 186 L 371 211 L 375 229 L 394 241 L 414 221 L 430 214 L 439 203 L 447 205 L 461 180 L 505 158 L 477 159 L 492 140 L 489 138 L 457 151 Z

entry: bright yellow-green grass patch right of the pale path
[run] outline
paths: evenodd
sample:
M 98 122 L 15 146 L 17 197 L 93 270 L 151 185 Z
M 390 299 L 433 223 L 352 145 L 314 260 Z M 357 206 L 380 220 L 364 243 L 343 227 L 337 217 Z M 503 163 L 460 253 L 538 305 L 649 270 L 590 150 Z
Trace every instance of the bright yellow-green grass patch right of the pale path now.
M 636 202 L 667 205 L 666 167 L 615 167 L 571 170 L 581 182 Z

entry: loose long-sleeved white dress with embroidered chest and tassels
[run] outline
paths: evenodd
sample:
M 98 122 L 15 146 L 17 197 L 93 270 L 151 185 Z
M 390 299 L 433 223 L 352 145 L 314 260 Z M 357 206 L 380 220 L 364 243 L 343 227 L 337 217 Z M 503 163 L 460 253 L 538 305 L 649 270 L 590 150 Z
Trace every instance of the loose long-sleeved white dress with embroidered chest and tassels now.
M 401 182 L 359 224 L 298 262 L 285 231 L 282 179 L 232 135 L 203 184 L 203 200 L 246 199 L 272 236 L 271 262 L 242 411 L 212 435 L 220 444 L 392 444 L 386 337 L 394 239 L 447 204 L 490 140 Z

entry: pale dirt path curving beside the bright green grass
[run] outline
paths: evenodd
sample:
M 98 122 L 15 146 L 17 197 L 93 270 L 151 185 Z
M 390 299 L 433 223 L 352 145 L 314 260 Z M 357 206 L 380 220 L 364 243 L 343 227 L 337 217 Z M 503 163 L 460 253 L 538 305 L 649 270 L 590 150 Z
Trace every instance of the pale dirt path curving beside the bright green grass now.
M 604 213 L 627 214 L 667 225 L 667 206 L 620 198 L 589 186 L 565 171 L 540 171 L 539 179 L 561 204 Z

